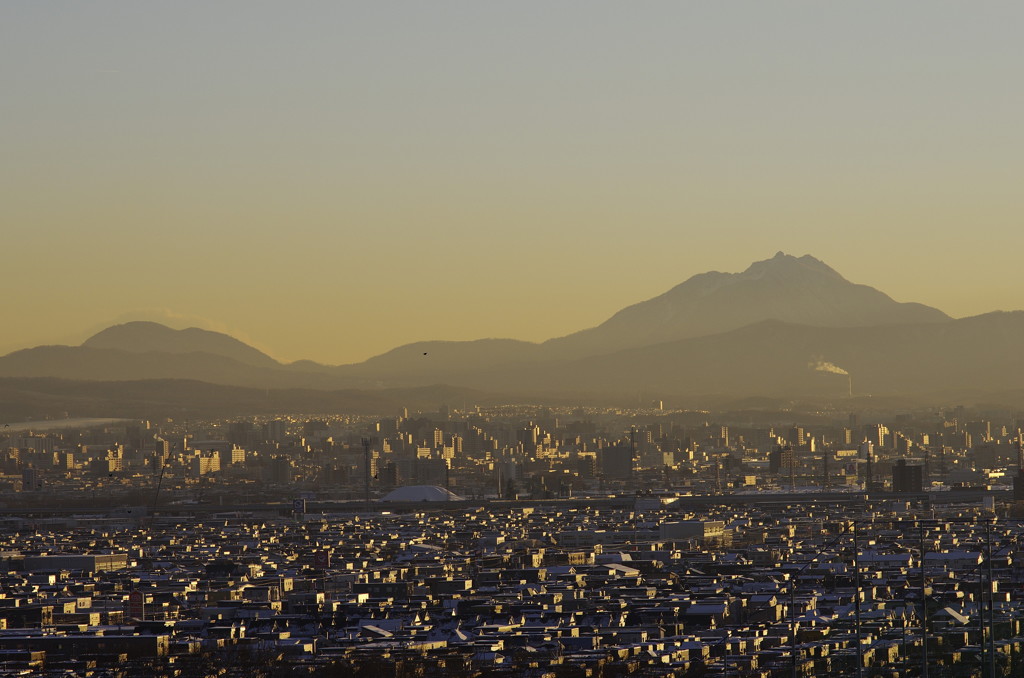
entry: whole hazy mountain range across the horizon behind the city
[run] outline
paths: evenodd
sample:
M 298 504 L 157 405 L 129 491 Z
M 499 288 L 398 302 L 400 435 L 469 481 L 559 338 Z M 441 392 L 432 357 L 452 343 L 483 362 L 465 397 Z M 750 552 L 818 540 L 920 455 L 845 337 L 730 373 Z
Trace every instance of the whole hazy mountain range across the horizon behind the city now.
M 739 273 L 694 276 L 597 327 L 542 343 L 425 341 L 355 365 L 282 364 L 225 334 L 127 323 L 80 346 L 2 356 L 0 378 L 195 380 L 374 397 L 381 389 L 443 384 L 477 396 L 536 400 L 899 395 L 934 401 L 1016 393 L 1024 377 L 1022 341 L 1022 311 L 954 320 L 853 284 L 814 257 L 780 252 Z

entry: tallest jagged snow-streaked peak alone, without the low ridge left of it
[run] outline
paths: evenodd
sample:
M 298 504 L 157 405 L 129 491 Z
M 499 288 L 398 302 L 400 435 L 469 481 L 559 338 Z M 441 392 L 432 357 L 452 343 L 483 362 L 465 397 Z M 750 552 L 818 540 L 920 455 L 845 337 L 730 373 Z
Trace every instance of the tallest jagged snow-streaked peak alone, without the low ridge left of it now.
M 557 355 L 595 355 L 729 332 L 762 321 L 842 328 L 949 320 L 937 308 L 899 303 L 874 288 L 850 283 L 810 255 L 798 258 L 779 252 L 741 273 L 694 276 L 595 328 L 551 339 L 544 347 Z

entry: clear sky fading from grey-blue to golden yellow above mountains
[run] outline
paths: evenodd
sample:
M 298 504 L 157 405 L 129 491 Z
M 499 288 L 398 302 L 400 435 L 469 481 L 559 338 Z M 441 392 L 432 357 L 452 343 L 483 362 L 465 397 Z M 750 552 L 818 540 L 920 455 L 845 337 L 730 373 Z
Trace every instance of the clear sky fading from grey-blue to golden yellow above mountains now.
M 541 341 L 777 251 L 1024 308 L 1024 3 L 0 4 L 0 352 Z

